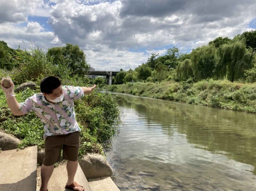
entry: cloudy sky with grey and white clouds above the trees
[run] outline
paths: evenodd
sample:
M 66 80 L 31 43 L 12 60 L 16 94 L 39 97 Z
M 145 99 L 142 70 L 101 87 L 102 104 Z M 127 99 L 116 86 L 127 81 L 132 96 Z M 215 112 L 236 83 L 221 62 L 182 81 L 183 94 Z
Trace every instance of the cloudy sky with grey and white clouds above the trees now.
M 1 0 L 0 40 L 11 48 L 78 45 L 95 70 L 134 70 L 256 29 L 255 0 Z

